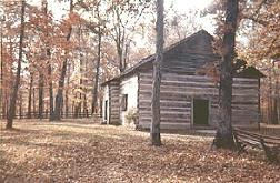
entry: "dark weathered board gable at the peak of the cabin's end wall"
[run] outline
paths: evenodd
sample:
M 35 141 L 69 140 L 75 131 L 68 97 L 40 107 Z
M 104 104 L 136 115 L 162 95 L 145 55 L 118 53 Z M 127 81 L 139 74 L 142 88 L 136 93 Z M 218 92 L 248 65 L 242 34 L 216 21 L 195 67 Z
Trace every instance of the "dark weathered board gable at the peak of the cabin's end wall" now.
M 213 53 L 212 40 L 203 30 L 192 34 L 164 53 L 162 71 L 194 74 L 206 63 L 218 61 L 220 57 Z

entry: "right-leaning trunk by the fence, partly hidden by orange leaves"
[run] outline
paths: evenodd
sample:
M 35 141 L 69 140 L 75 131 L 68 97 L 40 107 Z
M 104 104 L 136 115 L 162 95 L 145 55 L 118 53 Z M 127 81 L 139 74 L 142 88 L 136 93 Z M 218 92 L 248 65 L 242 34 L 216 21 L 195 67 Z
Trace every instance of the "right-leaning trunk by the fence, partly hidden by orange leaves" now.
M 73 11 L 73 0 L 70 0 L 70 13 L 72 13 L 72 11 Z M 66 38 L 67 41 L 70 40 L 71 32 L 72 32 L 72 27 L 70 26 L 67 38 Z M 63 102 L 63 88 L 64 88 L 66 71 L 67 71 L 67 59 L 64 59 L 62 63 L 62 69 L 61 69 L 60 78 L 59 78 L 59 88 L 58 88 L 58 93 L 56 96 L 56 108 L 53 111 L 53 119 L 51 119 L 52 121 L 59 121 L 61 119 L 60 114 L 61 114 L 62 102 Z

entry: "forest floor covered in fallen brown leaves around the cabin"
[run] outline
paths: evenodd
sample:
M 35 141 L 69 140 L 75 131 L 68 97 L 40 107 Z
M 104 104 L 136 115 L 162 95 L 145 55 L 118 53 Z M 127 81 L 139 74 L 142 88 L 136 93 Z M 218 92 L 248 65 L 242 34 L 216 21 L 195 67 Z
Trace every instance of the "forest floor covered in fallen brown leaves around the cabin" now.
M 149 133 L 84 120 L 17 121 L 0 131 L 0 182 L 280 182 L 263 153 L 211 150 L 212 136 Z

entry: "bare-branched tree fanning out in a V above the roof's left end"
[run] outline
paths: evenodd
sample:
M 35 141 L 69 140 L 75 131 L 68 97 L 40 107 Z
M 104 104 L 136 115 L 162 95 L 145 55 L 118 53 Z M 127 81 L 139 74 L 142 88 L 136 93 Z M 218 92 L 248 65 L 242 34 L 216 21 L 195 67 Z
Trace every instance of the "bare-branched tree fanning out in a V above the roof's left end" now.
M 140 18 L 150 7 L 150 0 L 136 0 L 133 2 L 127 0 L 111 1 L 109 3 L 109 17 L 112 22 L 111 37 L 116 43 L 117 54 L 119 59 L 119 70 L 123 72 L 128 64 L 129 44 L 140 26 Z M 111 23 L 110 23 L 111 24 Z M 108 27 L 110 27 L 108 24 Z

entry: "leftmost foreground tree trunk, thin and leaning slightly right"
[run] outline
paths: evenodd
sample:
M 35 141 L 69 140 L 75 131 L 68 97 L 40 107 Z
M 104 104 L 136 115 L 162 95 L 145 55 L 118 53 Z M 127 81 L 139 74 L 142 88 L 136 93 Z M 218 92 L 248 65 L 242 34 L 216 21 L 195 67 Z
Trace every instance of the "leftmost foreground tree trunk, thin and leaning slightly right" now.
M 24 37 L 24 13 L 26 13 L 26 1 L 21 1 L 21 18 L 20 18 L 20 40 L 19 40 L 19 60 L 17 68 L 16 81 L 13 83 L 12 94 L 10 98 L 10 106 L 7 118 L 7 129 L 12 129 L 12 122 L 16 113 L 16 101 L 18 98 L 18 90 L 20 84 L 20 71 L 21 71 L 21 61 L 22 61 L 22 49 L 23 49 L 23 37 Z

